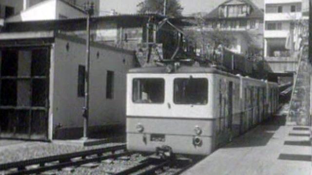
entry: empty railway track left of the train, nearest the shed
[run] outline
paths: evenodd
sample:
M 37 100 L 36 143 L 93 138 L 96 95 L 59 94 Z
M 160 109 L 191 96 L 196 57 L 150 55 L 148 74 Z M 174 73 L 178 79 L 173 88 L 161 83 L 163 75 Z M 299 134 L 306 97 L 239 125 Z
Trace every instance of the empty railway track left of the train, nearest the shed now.
M 91 162 L 101 162 L 105 159 L 129 155 L 126 145 L 99 148 L 49 157 L 40 157 L 18 162 L 0 164 L 0 172 L 5 175 L 39 174 L 50 170 L 60 170 L 65 167 L 80 166 Z M 121 153 L 116 153 L 122 151 Z M 35 168 L 34 168 L 35 167 Z

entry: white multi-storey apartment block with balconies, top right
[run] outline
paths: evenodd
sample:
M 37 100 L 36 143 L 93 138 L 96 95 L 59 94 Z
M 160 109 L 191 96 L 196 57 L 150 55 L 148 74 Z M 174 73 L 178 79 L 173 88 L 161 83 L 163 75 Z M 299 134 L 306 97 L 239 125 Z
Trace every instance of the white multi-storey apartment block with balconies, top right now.
M 265 0 L 265 57 L 291 56 L 293 44 L 286 44 L 286 40 L 294 30 L 295 21 L 302 18 L 301 5 L 302 0 Z

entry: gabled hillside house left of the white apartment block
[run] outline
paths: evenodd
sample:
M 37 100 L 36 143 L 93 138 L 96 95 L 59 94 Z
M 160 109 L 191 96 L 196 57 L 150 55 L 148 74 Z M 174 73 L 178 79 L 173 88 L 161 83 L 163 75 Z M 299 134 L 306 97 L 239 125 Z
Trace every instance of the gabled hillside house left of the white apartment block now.
M 263 11 L 250 0 L 227 0 L 204 17 L 206 31 L 222 31 L 232 34 L 230 50 L 249 53 L 253 45 L 263 48 Z

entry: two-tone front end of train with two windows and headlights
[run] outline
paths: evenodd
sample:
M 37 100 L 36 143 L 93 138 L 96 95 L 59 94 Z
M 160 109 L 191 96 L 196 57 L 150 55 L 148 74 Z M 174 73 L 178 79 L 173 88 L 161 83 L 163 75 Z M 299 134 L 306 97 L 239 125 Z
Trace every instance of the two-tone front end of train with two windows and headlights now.
M 127 75 L 127 148 L 208 155 L 214 149 L 212 77 L 184 69 L 131 70 Z

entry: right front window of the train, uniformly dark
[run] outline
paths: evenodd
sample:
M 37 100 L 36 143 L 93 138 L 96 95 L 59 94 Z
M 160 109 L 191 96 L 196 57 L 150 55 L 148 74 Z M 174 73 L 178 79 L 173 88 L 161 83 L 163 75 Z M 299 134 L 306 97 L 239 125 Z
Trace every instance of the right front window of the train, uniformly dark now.
M 205 105 L 208 101 L 206 78 L 176 78 L 174 102 L 180 105 Z

